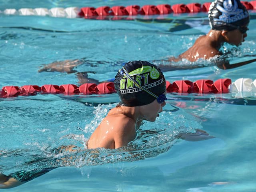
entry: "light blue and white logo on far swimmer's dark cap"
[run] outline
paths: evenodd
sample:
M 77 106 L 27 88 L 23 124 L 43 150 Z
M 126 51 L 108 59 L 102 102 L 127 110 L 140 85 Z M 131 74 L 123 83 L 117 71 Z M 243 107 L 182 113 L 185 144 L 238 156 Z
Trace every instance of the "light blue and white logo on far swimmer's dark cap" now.
M 211 6 L 211 8 L 213 7 Z M 238 3 L 236 0 L 234 0 L 234 4 L 232 4 L 231 0 L 226 0 L 223 2 L 223 7 L 217 4 L 216 8 L 222 14 L 219 16 L 219 18 L 214 18 L 214 21 L 234 23 L 236 21 L 249 17 L 249 13 L 247 11 L 238 8 Z

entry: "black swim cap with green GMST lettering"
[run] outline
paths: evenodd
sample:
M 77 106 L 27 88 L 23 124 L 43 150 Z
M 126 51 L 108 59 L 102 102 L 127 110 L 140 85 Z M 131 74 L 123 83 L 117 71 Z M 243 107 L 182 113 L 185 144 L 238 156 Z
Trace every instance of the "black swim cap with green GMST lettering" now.
M 150 104 L 156 96 L 166 91 L 163 73 L 157 66 L 147 61 L 126 63 L 116 74 L 114 85 L 121 100 L 120 104 L 129 107 Z

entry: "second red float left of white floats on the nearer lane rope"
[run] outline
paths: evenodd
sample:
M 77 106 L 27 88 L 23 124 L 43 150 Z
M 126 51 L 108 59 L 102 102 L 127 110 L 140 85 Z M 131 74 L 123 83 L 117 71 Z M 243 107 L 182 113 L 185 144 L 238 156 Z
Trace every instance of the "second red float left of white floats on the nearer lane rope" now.
M 211 93 L 214 92 L 212 89 L 212 80 L 200 79 L 194 82 L 193 92 L 194 93 Z

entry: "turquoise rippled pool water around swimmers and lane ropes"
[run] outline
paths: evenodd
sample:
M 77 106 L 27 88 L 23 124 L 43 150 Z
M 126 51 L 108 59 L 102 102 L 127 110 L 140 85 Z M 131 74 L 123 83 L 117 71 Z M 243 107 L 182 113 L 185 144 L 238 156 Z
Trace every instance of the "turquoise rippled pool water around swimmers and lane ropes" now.
M 0 10 L 156 4 L 117 0 L 0 2 Z M 157 2 L 161 3 L 166 2 Z M 76 70 L 103 81 L 113 78 L 122 62 L 178 56 L 209 30 L 205 13 L 170 14 L 164 22 L 157 17 L 113 21 L 1 14 L 0 87 L 78 85 L 74 73 L 38 72 L 44 64 L 68 59 L 82 59 Z M 255 55 L 254 13 L 251 18 L 246 41 L 229 55 L 231 63 Z M 164 75 L 170 82 L 254 80 L 254 64 L 231 70 L 209 64 Z M 58 146 L 85 146 L 108 109 L 116 106 L 116 94 L 0 98 L 0 172 L 10 174 L 49 164 L 64 166 L 8 191 L 254 191 L 255 94 L 168 94 L 168 98 L 157 121 L 144 123 L 138 138 L 130 144 L 130 152 L 100 149 L 100 153 L 85 150 L 60 156 L 52 153 Z M 200 142 L 174 139 L 178 133 L 196 128 L 215 138 Z M 72 155 L 76 157 L 70 160 Z M 66 165 L 71 166 L 56 162 L 62 157 L 67 157 Z

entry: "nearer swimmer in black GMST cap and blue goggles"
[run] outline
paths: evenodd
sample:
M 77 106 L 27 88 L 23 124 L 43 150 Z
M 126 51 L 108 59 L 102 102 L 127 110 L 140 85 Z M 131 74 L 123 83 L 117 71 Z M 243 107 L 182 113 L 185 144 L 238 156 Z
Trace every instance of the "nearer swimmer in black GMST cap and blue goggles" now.
M 116 74 L 114 85 L 120 103 L 112 108 L 87 142 L 88 149 L 116 149 L 127 146 L 136 138 L 136 130 L 142 121 L 154 122 L 166 105 L 166 80 L 161 70 L 146 61 L 126 63 Z M 180 134 L 178 138 L 199 141 L 213 138 L 203 130 Z M 74 145 L 58 151 L 74 152 Z M 6 176 L 0 174 L 0 188 L 12 188 L 28 182 L 54 168 L 40 171 L 20 171 Z

